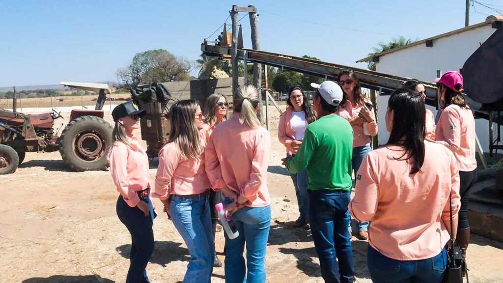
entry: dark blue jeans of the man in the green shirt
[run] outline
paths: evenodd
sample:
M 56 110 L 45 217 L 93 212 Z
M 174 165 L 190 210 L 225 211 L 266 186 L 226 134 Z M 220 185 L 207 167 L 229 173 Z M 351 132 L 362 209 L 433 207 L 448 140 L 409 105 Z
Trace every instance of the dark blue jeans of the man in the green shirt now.
M 356 280 L 348 232 L 350 199 L 346 191 L 309 191 L 311 233 L 325 282 L 339 282 L 338 273 L 341 282 Z

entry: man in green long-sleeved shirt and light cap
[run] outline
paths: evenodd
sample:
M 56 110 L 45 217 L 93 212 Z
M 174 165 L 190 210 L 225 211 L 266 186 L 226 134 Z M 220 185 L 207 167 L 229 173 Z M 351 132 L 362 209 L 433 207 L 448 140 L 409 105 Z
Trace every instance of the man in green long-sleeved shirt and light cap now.
M 316 88 L 313 108 L 318 120 L 307 126 L 297 154 L 284 159 L 284 164 L 291 173 L 307 169 L 309 224 L 323 279 L 354 282 L 348 231 L 353 128 L 336 114 L 343 99 L 341 87 L 331 81 L 311 86 Z

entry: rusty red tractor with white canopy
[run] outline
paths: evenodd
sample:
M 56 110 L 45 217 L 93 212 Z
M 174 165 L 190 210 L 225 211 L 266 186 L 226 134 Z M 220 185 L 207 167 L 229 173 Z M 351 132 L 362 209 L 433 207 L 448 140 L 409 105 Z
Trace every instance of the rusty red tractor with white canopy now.
M 26 152 L 54 152 L 75 171 L 104 170 L 112 145 L 112 126 L 103 119 L 103 105 L 110 88 L 107 84 L 61 83 L 72 88 L 99 92 L 95 110 L 72 110 L 66 127 L 57 135 L 54 120 L 59 112 L 23 114 L 0 109 L 0 175 L 16 171 Z

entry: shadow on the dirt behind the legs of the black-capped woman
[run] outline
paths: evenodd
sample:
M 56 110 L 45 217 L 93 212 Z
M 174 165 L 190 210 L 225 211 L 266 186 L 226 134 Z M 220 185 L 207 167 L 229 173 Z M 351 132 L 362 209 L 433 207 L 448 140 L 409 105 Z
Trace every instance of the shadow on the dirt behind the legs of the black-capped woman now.
M 190 255 L 187 248 L 181 247 L 182 243 L 172 241 L 154 241 L 154 253 L 150 257 L 150 263 L 160 264 L 166 267 L 172 261 L 189 261 Z M 122 245 L 115 248 L 124 258 L 129 258 L 131 245 Z

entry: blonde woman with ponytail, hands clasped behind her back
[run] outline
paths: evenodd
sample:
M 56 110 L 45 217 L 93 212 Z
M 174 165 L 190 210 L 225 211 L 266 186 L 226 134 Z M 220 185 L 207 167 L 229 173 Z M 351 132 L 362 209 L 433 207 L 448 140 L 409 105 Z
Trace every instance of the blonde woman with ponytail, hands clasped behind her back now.
M 234 98 L 232 118 L 216 126 L 210 136 L 205 153 L 206 173 L 212 188 L 222 191 L 225 208 L 239 231 L 232 240 L 225 234 L 225 281 L 265 282 L 271 224 L 266 178 L 271 136 L 257 118 L 257 89 L 241 86 Z

